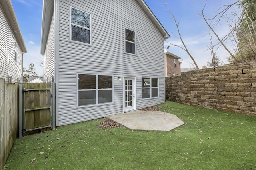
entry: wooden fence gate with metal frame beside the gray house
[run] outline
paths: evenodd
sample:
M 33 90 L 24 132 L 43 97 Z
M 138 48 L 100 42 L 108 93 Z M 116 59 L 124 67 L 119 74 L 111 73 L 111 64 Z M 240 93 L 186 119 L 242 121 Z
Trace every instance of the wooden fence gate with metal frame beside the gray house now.
M 55 129 L 55 84 L 23 83 L 19 90 L 19 137 Z

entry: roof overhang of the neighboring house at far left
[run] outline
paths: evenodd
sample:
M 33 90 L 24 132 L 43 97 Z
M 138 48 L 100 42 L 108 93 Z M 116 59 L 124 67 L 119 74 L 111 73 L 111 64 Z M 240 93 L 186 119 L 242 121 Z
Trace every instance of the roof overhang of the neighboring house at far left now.
M 20 31 L 19 23 L 16 18 L 11 0 L 0 0 L 0 6 L 3 9 L 4 16 L 6 16 L 6 18 L 8 20 L 8 23 L 12 29 L 12 35 L 14 35 L 14 37 L 20 47 L 20 50 L 22 51 L 22 53 L 27 53 L 26 45 L 24 43 L 22 33 Z

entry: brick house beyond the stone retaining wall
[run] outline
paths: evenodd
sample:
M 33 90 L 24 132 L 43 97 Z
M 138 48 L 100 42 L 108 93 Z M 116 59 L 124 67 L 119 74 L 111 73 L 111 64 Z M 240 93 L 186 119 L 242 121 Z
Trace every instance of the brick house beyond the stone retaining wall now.
M 164 50 L 164 76 L 179 76 L 180 75 L 180 64 L 181 59 L 177 55 Z

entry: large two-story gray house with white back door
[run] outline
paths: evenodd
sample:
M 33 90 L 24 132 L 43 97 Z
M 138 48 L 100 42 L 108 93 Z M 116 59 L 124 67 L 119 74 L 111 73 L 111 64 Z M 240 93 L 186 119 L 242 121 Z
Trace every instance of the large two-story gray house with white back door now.
M 44 0 L 44 81 L 56 125 L 164 102 L 164 39 L 144 0 Z

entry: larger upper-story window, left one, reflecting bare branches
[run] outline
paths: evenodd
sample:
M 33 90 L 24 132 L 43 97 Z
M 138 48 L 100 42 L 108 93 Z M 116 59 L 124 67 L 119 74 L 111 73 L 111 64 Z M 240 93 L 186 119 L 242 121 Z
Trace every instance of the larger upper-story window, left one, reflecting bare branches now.
M 91 14 L 71 7 L 70 40 L 91 44 Z

